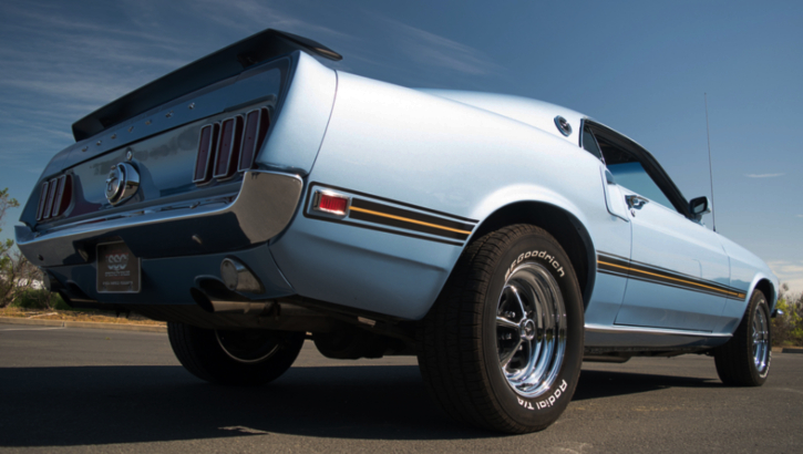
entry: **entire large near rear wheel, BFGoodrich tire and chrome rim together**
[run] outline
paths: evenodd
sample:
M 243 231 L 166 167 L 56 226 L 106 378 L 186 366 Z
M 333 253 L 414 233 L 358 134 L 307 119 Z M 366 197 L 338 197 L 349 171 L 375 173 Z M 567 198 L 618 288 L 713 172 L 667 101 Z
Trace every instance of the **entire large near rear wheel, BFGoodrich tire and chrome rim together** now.
M 461 256 L 421 323 L 421 373 L 455 420 L 539 431 L 572 400 L 583 327 L 583 298 L 560 245 L 538 227 L 508 226 Z

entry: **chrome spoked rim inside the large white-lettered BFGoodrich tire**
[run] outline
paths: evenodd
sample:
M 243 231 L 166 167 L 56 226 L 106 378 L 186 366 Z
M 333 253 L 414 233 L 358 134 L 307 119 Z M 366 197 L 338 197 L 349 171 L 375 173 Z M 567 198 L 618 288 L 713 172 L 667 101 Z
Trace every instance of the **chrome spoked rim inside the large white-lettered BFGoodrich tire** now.
M 549 390 L 566 353 L 566 308 L 557 281 L 544 266 L 516 267 L 496 309 L 496 350 L 507 383 L 519 395 Z

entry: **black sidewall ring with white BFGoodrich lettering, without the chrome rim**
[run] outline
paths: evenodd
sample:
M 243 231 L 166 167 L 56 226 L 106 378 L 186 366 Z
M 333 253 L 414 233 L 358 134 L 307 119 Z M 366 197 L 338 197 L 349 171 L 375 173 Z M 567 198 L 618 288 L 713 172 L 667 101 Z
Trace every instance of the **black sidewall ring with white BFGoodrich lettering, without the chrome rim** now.
M 516 393 L 498 367 L 496 350 L 496 310 L 507 277 L 517 266 L 538 264 L 555 278 L 564 298 L 567 318 L 566 350 L 560 371 L 552 386 L 535 398 Z M 514 239 L 494 265 L 483 308 L 483 351 L 485 369 L 496 403 L 513 420 L 543 427 L 557 420 L 568 405 L 577 385 L 584 345 L 583 298 L 572 264 L 556 241 L 535 233 Z

